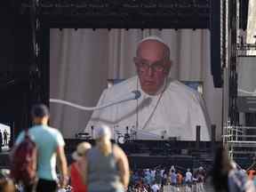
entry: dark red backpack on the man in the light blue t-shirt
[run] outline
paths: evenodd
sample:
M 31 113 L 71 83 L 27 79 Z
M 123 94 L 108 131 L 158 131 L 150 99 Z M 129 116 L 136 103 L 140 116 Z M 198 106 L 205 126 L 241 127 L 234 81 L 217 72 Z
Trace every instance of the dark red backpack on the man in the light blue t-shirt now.
M 37 148 L 34 140 L 25 132 L 24 140 L 12 154 L 11 177 L 15 182 L 30 185 L 36 180 Z

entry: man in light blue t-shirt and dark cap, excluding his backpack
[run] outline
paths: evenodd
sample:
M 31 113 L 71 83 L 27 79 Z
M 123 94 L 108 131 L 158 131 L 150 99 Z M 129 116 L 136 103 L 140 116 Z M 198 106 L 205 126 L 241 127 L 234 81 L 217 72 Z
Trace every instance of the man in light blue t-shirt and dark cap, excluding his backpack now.
M 37 177 L 38 182 L 36 191 L 53 192 L 57 190 L 56 157 L 60 168 L 60 188 L 67 185 L 68 168 L 64 153 L 65 142 L 61 133 L 48 126 L 49 111 L 43 105 L 35 105 L 31 110 L 33 126 L 29 128 L 28 133 L 36 142 L 37 148 Z M 25 132 L 21 132 L 15 141 L 15 146 L 19 145 L 24 139 Z

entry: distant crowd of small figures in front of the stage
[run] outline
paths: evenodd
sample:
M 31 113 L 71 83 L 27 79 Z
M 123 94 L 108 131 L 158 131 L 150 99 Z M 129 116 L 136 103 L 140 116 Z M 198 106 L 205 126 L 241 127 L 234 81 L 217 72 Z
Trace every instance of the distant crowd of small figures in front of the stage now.
M 206 172 L 203 167 L 190 171 L 171 168 L 157 167 L 153 169 L 137 170 L 131 173 L 131 182 L 128 191 L 160 191 L 166 186 L 175 188 L 192 188 L 193 184 L 202 184 L 201 191 L 204 191 L 204 180 Z M 200 186 L 200 185 L 198 185 Z

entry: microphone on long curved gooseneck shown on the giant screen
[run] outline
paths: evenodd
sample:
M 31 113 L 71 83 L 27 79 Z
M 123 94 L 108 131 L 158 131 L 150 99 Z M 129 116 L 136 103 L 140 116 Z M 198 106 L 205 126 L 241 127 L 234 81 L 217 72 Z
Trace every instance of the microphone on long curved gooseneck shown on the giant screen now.
M 101 106 L 96 106 L 96 107 L 84 107 L 84 106 L 81 106 L 81 105 L 77 105 L 76 103 L 69 102 L 67 100 L 57 100 L 57 99 L 52 99 L 52 98 L 50 99 L 50 102 L 67 105 L 67 106 L 70 106 L 70 107 L 73 107 L 73 108 L 79 108 L 81 110 L 98 110 L 98 109 L 101 109 L 101 108 L 108 108 L 110 106 L 113 106 L 113 105 L 116 105 L 118 103 L 122 103 L 122 102 L 125 102 L 125 101 L 128 101 L 128 100 L 138 100 L 140 98 L 140 95 L 141 95 L 140 91 L 134 90 L 132 92 L 129 92 L 128 94 L 125 94 L 125 95 L 121 96 L 117 100 L 113 100 L 113 101 L 110 101 L 106 104 L 103 104 Z

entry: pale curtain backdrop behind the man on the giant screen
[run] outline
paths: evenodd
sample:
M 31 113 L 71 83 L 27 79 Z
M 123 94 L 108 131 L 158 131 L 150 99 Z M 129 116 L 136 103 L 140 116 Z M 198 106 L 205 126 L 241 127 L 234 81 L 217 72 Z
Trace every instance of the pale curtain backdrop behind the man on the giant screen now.
M 202 81 L 204 100 L 212 124 L 221 133 L 222 91 L 213 87 L 210 63 L 210 32 L 206 29 L 51 29 L 50 96 L 83 106 L 95 106 L 107 79 L 136 74 L 132 58 L 137 43 L 156 35 L 171 48 L 170 76 L 179 80 Z M 84 131 L 92 112 L 51 103 L 51 124 L 65 138 Z

